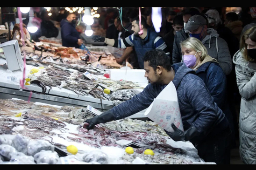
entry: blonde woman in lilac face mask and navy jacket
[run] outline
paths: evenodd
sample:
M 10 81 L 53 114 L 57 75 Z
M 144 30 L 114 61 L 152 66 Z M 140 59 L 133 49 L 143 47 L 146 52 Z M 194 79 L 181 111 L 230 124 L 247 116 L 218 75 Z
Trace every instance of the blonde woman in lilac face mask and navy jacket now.
M 197 38 L 189 37 L 182 41 L 180 46 L 185 65 L 195 70 L 196 75 L 204 81 L 210 94 L 213 96 L 214 102 L 217 103 L 218 107 L 227 117 L 229 127 L 234 133 L 232 113 L 227 103 L 227 80 L 223 70 L 220 68 L 219 62 L 208 55 L 206 47 Z M 234 137 L 231 133 L 230 139 L 234 140 Z M 227 157 L 225 164 L 230 164 L 230 139 L 226 141 Z

